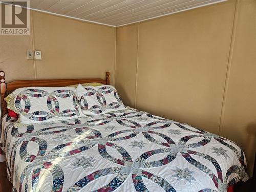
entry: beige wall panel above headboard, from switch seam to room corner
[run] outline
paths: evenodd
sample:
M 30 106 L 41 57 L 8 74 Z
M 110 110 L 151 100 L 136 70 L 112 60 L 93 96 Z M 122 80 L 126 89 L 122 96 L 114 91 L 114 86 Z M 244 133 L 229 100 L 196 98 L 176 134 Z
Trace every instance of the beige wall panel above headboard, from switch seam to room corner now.
M 104 78 L 114 84 L 115 28 L 33 12 L 38 79 Z

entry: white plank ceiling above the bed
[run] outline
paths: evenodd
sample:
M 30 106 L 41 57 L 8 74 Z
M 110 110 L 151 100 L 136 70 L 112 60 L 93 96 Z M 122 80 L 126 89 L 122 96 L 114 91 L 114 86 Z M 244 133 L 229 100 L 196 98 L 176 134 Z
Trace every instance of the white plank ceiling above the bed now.
M 122 26 L 224 1 L 30 0 L 30 8 L 104 25 Z

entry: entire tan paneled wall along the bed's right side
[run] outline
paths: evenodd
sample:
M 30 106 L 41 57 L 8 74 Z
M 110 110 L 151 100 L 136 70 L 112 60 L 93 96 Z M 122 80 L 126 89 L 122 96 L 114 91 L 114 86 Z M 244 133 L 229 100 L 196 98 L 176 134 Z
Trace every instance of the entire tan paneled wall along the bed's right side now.
M 231 0 L 119 27 L 116 36 L 116 88 L 124 103 L 236 141 L 250 173 L 255 15 L 256 1 Z

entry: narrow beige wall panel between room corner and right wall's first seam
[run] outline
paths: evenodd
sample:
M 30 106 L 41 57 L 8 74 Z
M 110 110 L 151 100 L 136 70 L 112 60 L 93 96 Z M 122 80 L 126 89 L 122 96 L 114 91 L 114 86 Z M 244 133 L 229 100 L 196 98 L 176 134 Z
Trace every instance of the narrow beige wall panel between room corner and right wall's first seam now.
M 124 104 L 135 106 L 138 24 L 117 28 L 116 89 Z

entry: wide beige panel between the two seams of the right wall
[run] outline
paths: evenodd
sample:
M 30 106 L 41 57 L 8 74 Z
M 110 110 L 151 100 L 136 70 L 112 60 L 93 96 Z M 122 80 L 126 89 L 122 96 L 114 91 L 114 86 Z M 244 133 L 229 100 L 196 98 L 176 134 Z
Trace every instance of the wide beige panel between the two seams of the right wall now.
M 235 2 L 140 24 L 137 108 L 218 133 Z

